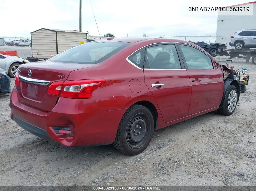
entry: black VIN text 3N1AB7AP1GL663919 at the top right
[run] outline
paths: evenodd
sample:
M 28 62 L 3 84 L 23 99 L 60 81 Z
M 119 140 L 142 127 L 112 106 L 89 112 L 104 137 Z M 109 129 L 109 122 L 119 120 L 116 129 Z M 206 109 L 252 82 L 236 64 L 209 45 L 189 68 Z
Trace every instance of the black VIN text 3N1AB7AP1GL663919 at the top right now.
M 250 7 L 189 7 L 188 11 L 250 11 Z

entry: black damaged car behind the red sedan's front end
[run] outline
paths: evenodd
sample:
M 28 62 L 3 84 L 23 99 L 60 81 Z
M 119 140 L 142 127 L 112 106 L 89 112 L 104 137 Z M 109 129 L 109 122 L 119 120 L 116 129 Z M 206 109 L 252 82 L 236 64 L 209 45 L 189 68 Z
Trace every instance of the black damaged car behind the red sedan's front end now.
M 213 57 L 218 56 L 218 55 L 220 55 L 220 56 L 228 55 L 228 53 L 226 51 L 224 51 L 224 49 L 227 49 L 227 44 L 205 43 L 202 41 L 199 41 L 195 44 L 200 46 L 201 48 L 203 48 L 206 52 L 210 53 L 211 56 L 213 56 Z

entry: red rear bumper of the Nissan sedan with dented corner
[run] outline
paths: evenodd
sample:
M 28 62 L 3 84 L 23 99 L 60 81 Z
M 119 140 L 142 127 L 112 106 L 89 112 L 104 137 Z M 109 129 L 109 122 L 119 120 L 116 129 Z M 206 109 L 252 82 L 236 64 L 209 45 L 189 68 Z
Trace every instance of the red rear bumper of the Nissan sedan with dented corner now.
M 35 109 L 11 94 L 10 117 L 28 132 L 65 146 L 105 145 L 115 141 L 124 110 L 102 111 L 94 99 L 59 98 L 51 112 Z M 71 128 L 72 135 L 56 134 L 53 126 Z

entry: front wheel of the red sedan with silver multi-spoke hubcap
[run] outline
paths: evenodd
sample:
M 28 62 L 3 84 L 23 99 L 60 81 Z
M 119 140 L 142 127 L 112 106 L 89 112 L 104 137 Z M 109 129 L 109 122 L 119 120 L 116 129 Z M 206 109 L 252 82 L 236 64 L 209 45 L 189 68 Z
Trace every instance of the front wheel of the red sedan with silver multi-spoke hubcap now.
M 234 113 L 237 105 L 238 93 L 237 89 L 233 85 L 229 85 L 224 95 L 224 101 L 222 108 L 218 110 L 221 115 L 230 116 Z

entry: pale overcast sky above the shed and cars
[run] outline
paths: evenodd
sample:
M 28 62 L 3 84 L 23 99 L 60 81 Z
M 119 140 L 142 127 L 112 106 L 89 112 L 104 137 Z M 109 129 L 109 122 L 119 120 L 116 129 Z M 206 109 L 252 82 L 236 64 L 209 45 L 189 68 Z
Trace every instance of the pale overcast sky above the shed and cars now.
M 91 0 L 101 36 L 171 37 L 216 33 L 217 12 L 189 7 L 223 7 L 244 0 Z M 250 2 L 250 1 L 249 1 Z M 90 0 L 82 0 L 82 32 L 99 36 Z M 79 30 L 79 0 L 0 0 L 0 37 L 30 37 L 40 28 Z

